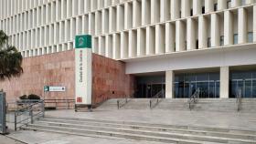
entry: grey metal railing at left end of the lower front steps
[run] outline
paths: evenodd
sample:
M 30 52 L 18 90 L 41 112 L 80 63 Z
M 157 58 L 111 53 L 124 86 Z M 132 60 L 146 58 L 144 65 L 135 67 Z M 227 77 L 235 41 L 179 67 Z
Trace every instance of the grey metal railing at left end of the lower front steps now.
M 28 113 L 28 117 L 26 118 L 27 113 Z M 26 126 L 28 123 L 33 124 L 35 118 L 44 118 L 44 117 L 45 117 L 45 101 L 44 100 L 39 100 L 36 103 L 30 104 L 25 108 L 20 108 L 15 111 L 15 130 L 20 129 L 23 126 Z M 20 119 L 18 120 L 18 118 Z

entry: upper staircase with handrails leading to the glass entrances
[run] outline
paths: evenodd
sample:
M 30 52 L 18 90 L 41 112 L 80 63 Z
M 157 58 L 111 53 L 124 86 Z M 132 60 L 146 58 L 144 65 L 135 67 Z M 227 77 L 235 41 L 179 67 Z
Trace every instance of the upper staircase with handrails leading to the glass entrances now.
M 113 110 L 117 109 L 117 101 L 124 101 L 124 99 L 110 99 L 104 102 L 98 109 Z M 130 98 L 127 103 L 123 103 L 120 109 L 149 109 L 150 98 Z M 237 112 L 239 103 L 237 98 L 198 98 L 197 103 L 193 108 L 189 108 L 189 99 L 174 98 L 165 99 L 160 98 L 159 103 L 152 108 L 162 110 L 193 110 L 193 111 L 217 111 L 217 112 Z M 256 98 L 242 98 L 240 103 L 240 111 L 238 112 L 255 112 Z

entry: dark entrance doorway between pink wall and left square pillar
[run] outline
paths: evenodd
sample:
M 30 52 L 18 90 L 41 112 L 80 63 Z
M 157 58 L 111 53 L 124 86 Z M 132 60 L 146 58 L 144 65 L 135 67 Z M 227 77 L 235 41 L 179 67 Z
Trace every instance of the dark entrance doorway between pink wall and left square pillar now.
M 162 89 L 165 90 L 165 76 L 136 77 L 135 98 L 153 98 Z

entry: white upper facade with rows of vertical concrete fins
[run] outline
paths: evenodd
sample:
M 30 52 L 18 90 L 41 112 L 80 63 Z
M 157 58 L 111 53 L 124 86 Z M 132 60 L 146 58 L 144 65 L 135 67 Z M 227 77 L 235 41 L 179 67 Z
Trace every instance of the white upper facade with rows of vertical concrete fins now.
M 0 29 L 25 57 L 72 48 L 129 59 L 256 43 L 256 0 L 0 0 Z

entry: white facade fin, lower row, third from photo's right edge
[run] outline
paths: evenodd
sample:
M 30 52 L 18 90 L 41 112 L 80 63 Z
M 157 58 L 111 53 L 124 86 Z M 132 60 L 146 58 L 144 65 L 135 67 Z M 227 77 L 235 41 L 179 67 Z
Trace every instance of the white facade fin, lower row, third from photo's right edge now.
M 233 44 L 233 15 L 230 11 L 224 12 L 224 45 Z

